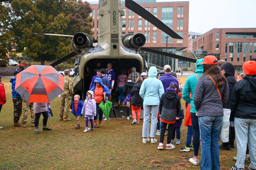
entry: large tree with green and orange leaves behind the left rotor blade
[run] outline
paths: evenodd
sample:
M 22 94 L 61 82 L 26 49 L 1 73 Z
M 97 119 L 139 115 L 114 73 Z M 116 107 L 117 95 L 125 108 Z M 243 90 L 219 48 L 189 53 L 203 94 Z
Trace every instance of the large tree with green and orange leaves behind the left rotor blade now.
M 43 36 L 33 33 L 92 35 L 89 3 L 81 0 L 14 0 L 12 31 L 17 40 L 17 51 L 34 61 L 53 61 L 72 51 L 70 38 Z

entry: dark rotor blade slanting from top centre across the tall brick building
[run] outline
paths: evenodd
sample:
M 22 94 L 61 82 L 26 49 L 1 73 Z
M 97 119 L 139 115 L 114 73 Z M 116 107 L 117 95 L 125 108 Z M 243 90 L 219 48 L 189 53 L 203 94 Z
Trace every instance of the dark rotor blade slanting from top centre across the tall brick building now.
M 155 17 L 153 14 L 148 12 L 145 8 L 137 4 L 136 2 L 132 0 L 125 0 L 125 7 L 132 10 L 145 20 L 149 21 L 151 24 L 155 25 L 157 28 L 162 30 L 163 32 L 167 33 L 172 38 L 176 39 L 183 39 L 179 34 L 177 34 L 175 31 L 173 31 L 170 27 L 168 27 L 165 23 L 163 23 L 161 20 L 159 20 L 157 17 Z

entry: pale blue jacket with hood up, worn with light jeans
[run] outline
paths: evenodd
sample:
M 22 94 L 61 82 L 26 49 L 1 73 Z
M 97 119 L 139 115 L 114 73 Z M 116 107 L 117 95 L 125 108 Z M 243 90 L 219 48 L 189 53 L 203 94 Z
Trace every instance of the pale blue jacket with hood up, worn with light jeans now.
M 140 87 L 140 96 L 143 101 L 143 105 L 159 105 L 162 94 L 165 92 L 163 84 L 157 78 L 157 69 L 155 66 L 151 66 L 148 71 L 148 78 L 146 78 Z

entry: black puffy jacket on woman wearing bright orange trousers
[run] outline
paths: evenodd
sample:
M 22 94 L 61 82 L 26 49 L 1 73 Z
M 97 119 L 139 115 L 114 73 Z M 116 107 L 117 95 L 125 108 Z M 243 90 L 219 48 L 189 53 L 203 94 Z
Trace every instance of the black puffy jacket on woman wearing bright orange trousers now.
M 142 107 L 143 106 L 143 99 L 140 97 L 140 87 L 141 83 L 137 82 L 131 89 L 131 104 L 136 107 Z

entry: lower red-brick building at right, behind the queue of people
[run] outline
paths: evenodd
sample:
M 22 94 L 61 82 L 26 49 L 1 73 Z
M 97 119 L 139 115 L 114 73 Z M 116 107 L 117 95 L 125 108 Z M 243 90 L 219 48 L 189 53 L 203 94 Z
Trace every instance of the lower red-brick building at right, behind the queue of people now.
M 230 62 L 236 70 L 242 71 L 245 61 L 256 58 L 255 36 L 256 28 L 213 28 L 194 39 L 192 49 L 198 58 L 214 55 L 218 60 Z

